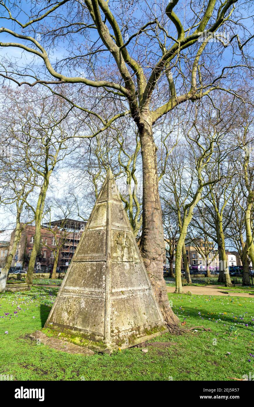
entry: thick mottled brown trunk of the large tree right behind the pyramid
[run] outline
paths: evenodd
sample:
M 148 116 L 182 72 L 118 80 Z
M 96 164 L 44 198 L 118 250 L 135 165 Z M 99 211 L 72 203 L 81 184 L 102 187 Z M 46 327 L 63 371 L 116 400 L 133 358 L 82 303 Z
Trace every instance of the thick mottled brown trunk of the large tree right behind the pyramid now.
M 139 123 L 143 168 L 143 218 L 140 250 L 146 271 L 152 283 L 157 302 L 166 322 L 179 324 L 168 301 L 166 282 L 163 278 L 164 232 L 159 199 L 156 146 L 152 123 Z

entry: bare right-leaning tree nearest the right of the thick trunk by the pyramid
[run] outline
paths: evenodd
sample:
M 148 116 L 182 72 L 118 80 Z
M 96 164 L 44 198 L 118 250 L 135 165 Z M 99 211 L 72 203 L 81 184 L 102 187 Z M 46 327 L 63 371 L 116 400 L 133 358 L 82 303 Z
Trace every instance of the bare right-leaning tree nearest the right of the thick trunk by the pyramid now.
M 190 271 L 185 251 L 185 239 L 188 225 L 193 216 L 193 211 L 202 197 L 205 186 L 214 183 L 214 179 L 206 176 L 205 168 L 208 163 L 216 166 L 214 160 L 214 146 L 222 137 L 219 131 L 220 119 L 212 117 L 212 105 L 194 107 L 194 117 L 186 120 L 182 128 L 185 136 L 182 145 L 173 150 L 168 160 L 168 168 L 163 178 L 165 192 L 173 195 L 172 201 L 179 222 L 179 239 L 176 248 L 176 293 L 182 293 L 181 284 L 181 259 L 185 265 L 186 278 L 190 282 Z M 166 199 L 166 198 L 164 198 Z

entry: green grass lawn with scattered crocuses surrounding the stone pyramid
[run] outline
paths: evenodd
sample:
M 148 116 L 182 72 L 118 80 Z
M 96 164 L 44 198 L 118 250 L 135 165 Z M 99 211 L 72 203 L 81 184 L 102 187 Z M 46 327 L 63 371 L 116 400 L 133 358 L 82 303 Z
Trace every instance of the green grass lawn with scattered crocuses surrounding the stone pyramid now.
M 254 373 L 254 298 L 168 294 L 186 327 L 212 332 L 166 333 L 141 348 L 92 356 L 37 345 L 58 287 L 0 294 L 0 374 L 17 380 L 230 380 Z M 170 343 L 169 343 L 170 342 Z

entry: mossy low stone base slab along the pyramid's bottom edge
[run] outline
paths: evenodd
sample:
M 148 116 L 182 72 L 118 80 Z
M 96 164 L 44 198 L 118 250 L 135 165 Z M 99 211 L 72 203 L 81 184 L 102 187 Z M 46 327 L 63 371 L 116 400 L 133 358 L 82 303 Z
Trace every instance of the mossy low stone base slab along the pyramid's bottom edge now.
M 131 341 L 126 340 L 122 344 L 113 344 L 113 343 L 107 344 L 106 342 L 101 341 L 101 340 L 98 341 L 95 338 L 94 338 L 95 340 L 92 340 L 92 339 L 90 339 L 91 335 L 79 336 L 79 335 L 77 335 L 78 334 L 77 331 L 74 333 L 73 331 L 68 330 L 68 329 L 65 329 L 64 332 L 62 332 L 62 330 L 60 330 L 60 327 L 58 327 L 58 326 L 54 326 L 53 329 L 52 328 L 42 328 L 41 332 L 49 337 L 57 337 L 64 341 L 68 341 L 68 342 L 71 342 L 72 344 L 78 345 L 82 348 L 88 348 L 95 352 L 110 354 L 110 353 L 114 352 L 114 350 L 119 350 L 119 349 L 123 350 L 123 349 L 131 348 L 133 346 L 146 342 L 152 338 L 155 338 L 159 335 L 163 335 L 163 333 L 167 332 L 166 326 L 156 327 L 155 329 L 157 330 L 156 332 L 148 333 L 147 335 L 133 338 L 133 339 L 131 339 Z

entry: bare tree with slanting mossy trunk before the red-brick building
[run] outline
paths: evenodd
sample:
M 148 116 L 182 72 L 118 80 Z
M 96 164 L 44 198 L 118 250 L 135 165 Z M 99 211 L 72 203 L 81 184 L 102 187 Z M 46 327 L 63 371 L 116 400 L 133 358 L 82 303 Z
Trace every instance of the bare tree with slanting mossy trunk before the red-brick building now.
M 79 124 L 69 118 L 70 109 L 66 109 L 62 98 L 38 93 L 33 88 L 25 93 L 9 92 L 8 96 L 6 126 L 10 137 L 19 146 L 23 165 L 36 181 L 32 184 L 31 179 L 30 183 L 37 196 L 33 201 L 25 200 L 35 222 L 34 244 L 27 270 L 27 282 L 32 284 L 49 180 L 58 163 L 70 153 L 69 144 L 75 148 Z

